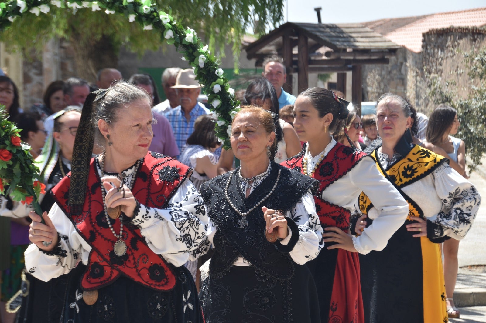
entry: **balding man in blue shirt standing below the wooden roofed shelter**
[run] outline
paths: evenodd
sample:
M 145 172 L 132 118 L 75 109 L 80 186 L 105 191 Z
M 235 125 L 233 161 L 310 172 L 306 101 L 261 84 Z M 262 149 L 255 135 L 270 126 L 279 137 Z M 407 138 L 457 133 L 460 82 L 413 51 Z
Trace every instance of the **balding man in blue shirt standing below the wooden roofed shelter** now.
M 282 109 L 287 104 L 294 104 L 295 97 L 285 92 L 282 88 L 283 84 L 287 81 L 287 72 L 281 57 L 270 56 L 265 58 L 263 60 L 262 75 L 274 86 L 275 92 L 277 92 L 279 109 Z

